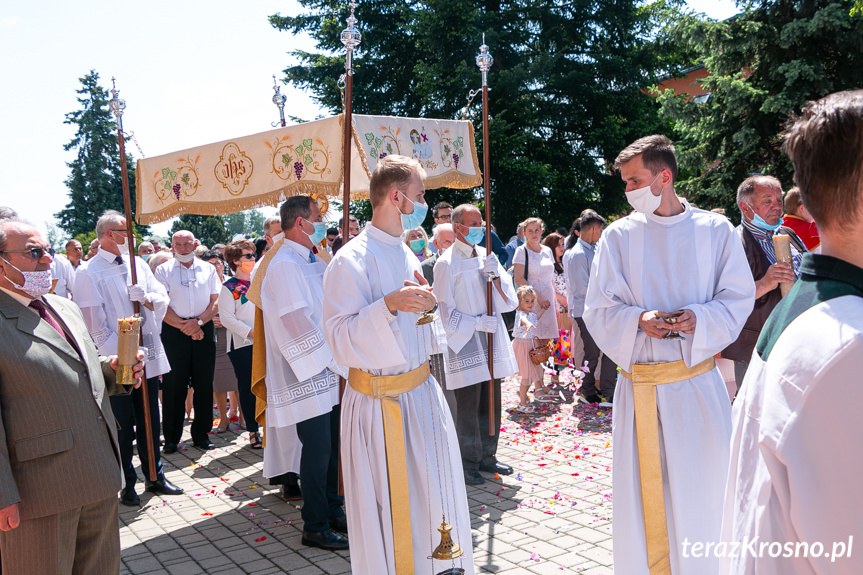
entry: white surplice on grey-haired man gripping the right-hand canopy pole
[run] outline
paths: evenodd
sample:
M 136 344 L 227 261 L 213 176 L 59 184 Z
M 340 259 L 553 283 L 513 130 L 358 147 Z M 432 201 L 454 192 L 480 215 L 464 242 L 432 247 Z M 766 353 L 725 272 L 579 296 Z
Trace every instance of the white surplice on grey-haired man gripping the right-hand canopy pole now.
M 477 331 L 477 321 L 488 311 L 486 303 L 487 280 L 483 273 L 485 248 L 456 241 L 446 250 L 434 268 L 434 293 L 440 306 L 440 316 L 446 330 L 446 388 L 461 389 L 489 380 L 488 334 Z M 517 368 L 512 353 L 512 342 L 501 313 L 518 306 L 512 277 L 498 263 L 497 273 L 504 300 L 492 287 L 492 309 L 497 317 L 494 333 L 494 377 L 502 379 L 513 375 Z

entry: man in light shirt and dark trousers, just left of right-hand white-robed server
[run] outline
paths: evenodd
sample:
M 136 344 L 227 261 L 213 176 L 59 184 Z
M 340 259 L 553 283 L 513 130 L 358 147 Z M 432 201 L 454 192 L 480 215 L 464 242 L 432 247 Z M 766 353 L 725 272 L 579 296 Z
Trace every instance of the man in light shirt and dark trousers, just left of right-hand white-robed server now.
M 587 286 L 590 282 L 590 268 L 593 265 L 593 256 L 596 250 L 596 242 L 602 235 L 605 227 L 605 218 L 593 210 L 584 210 L 581 213 L 581 230 L 578 240 L 563 255 L 563 273 L 566 274 L 566 304 L 569 315 L 572 316 L 584 344 L 584 359 L 587 362 L 587 371 L 581 382 L 581 390 L 578 398 L 586 403 L 599 403 L 602 407 L 610 407 L 614 402 L 614 388 L 617 385 L 617 366 L 608 355 L 603 354 L 596 342 L 591 337 L 584 319 L 584 298 L 587 295 Z M 599 356 L 602 355 L 602 378 L 599 382 L 599 393 L 596 388 L 596 367 L 599 364 Z

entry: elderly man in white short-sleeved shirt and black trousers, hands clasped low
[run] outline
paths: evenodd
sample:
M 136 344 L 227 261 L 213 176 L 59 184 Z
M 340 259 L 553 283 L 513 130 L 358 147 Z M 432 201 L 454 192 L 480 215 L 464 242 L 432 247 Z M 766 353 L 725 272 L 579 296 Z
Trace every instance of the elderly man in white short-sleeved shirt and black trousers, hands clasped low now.
M 168 291 L 170 303 L 162 323 L 162 343 L 171 371 L 162 376 L 162 432 L 165 453 L 175 453 L 183 435 L 186 392 L 195 390 L 192 443 L 200 449 L 213 444 L 213 374 L 216 362 L 216 315 L 222 289 L 216 268 L 195 257 L 199 242 L 181 230 L 171 238 L 174 257 L 156 268 L 155 276 Z

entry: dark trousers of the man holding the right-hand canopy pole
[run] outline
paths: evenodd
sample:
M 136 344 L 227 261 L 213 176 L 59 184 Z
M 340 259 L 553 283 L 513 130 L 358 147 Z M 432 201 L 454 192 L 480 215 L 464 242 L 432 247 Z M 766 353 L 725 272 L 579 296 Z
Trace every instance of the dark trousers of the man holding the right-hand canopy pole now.
M 465 469 L 493 465 L 500 438 L 500 380 L 494 380 L 494 435 L 488 434 L 488 382 L 455 390 L 458 404 L 455 430 Z

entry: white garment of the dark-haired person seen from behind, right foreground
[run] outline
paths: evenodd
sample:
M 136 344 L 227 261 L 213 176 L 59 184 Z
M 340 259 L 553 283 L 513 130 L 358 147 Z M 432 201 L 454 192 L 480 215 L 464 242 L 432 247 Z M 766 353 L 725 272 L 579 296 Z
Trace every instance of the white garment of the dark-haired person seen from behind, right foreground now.
M 863 573 L 861 373 L 857 296 L 804 311 L 766 362 L 753 352 L 732 414 L 724 545 L 717 550 L 723 573 Z

